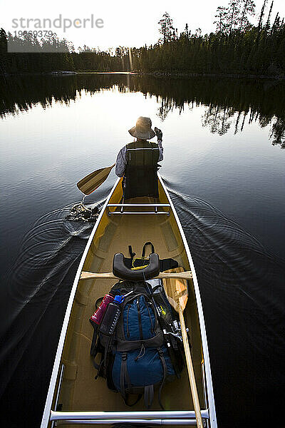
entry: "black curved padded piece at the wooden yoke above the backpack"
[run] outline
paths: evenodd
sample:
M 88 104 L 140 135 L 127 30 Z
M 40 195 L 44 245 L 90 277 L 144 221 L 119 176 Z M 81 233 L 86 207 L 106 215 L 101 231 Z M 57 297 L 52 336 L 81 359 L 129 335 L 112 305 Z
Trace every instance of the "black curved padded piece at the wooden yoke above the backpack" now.
M 150 261 L 146 267 L 131 270 L 124 263 L 124 255 L 116 253 L 113 258 L 113 274 L 121 280 L 143 281 L 150 280 L 160 273 L 160 258 L 156 253 L 150 254 Z

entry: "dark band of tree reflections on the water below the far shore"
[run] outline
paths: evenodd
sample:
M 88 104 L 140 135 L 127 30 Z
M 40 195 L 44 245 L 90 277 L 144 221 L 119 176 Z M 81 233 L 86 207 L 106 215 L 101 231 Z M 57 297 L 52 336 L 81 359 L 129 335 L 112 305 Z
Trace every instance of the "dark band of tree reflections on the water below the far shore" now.
M 91 95 L 102 89 L 120 93 L 142 92 L 155 96 L 162 121 L 185 106 L 206 106 L 202 126 L 224 135 L 242 132 L 244 123 L 270 126 L 269 140 L 285 148 L 285 84 L 279 80 L 229 78 L 155 78 L 124 74 L 78 74 L 73 76 L 11 76 L 1 78 L 0 117 L 28 111 L 36 103 L 43 108 L 53 101 L 76 101 L 81 92 Z

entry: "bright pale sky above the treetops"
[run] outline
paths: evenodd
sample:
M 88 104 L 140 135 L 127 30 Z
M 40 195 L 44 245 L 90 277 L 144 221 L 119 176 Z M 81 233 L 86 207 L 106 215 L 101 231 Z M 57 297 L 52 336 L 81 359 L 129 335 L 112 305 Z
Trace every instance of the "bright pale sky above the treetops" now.
M 181 32 L 188 24 L 189 29 L 195 32 L 202 29 L 202 34 L 215 31 L 213 24 L 216 18 L 218 6 L 227 6 L 227 0 L 144 0 L 143 2 L 120 0 L 120 1 L 100 1 L 85 0 L 84 2 L 49 0 L 40 2 L 29 0 L 23 2 L 14 0 L 2 3 L 1 22 L 6 31 L 12 34 L 17 29 L 12 27 L 12 19 L 25 18 L 49 18 L 56 19 L 59 14 L 63 18 L 84 19 L 93 14 L 94 19 L 103 19 L 103 28 L 71 28 L 63 32 L 63 29 L 54 29 L 60 38 L 73 42 L 76 49 L 78 46 L 87 45 L 108 49 L 115 46 L 143 46 L 144 44 L 155 44 L 160 38 L 157 22 L 162 18 L 162 14 L 167 11 L 173 19 L 173 26 Z M 255 0 L 256 12 L 260 13 L 264 0 Z M 268 1 L 265 15 L 268 14 L 271 0 Z M 281 19 L 285 16 L 285 0 L 274 0 L 272 18 L 279 12 Z M 258 19 L 253 18 L 252 24 L 257 25 Z

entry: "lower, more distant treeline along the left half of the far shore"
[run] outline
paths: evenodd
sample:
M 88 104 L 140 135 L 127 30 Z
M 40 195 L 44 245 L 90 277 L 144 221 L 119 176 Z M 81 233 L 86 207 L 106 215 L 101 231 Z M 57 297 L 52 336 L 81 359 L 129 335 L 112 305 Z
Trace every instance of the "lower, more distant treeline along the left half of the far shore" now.
M 9 51 L 7 49 L 9 44 Z M 75 51 L 73 45 L 55 36 L 41 42 L 33 34 L 21 37 L 0 30 L 0 74 L 48 73 L 51 71 L 125 71 L 130 69 L 128 49 Z

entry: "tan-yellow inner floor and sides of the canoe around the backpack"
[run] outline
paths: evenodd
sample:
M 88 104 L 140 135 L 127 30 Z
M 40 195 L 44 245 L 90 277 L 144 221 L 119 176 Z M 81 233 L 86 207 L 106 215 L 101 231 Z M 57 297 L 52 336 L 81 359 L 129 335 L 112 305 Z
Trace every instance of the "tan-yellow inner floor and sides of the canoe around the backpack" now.
M 160 183 L 159 190 L 160 200 L 158 202 L 168 203 L 167 195 Z M 122 190 L 119 183 L 109 203 L 120 203 L 121 197 Z M 153 203 L 153 200 L 151 198 L 136 198 L 131 202 Z M 118 208 L 110 209 L 118 210 Z M 145 208 L 140 209 L 145 210 Z M 190 270 L 175 216 L 171 208 L 160 208 L 160 210 L 162 209 L 170 210 L 170 216 L 108 215 L 107 208 L 88 250 L 83 270 L 111 272 L 115 253 L 123 253 L 129 257 L 128 245 L 132 245 L 133 251 L 140 256 L 142 246 L 147 241 L 154 244 L 155 252 L 160 255 L 160 258 L 174 258 L 185 270 Z M 105 379 L 94 379 L 96 370 L 90 358 L 93 327 L 90 325 L 89 317 L 95 310 L 95 301 L 98 297 L 105 295 L 114 283 L 114 280 L 80 280 L 78 282 L 61 359 L 65 365 L 61 393 L 58 399 L 62 411 L 145 410 L 143 399 L 135 406 L 128 407 L 124 404 L 120 394 L 108 389 Z M 197 389 L 201 409 L 204 409 L 202 342 L 192 280 L 188 283 L 189 299 L 184 312 L 185 321 L 187 327 L 190 328 Z M 165 410 L 194 409 L 186 370 L 182 372 L 181 379 L 165 384 L 162 389 L 162 403 Z M 152 410 L 160 410 L 157 397 L 152 405 Z

